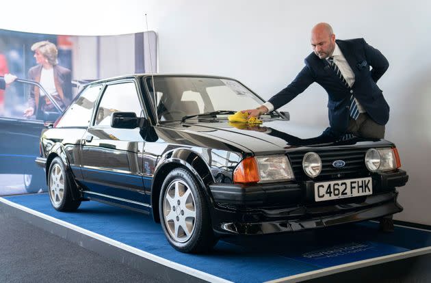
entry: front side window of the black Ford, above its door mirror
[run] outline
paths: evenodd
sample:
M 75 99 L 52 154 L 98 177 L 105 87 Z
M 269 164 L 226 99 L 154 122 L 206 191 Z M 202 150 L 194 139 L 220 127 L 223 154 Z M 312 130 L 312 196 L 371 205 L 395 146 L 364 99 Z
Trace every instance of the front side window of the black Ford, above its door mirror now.
M 108 85 L 97 109 L 94 125 L 110 126 L 114 112 L 135 112 L 136 117 L 140 117 L 141 111 L 135 83 Z

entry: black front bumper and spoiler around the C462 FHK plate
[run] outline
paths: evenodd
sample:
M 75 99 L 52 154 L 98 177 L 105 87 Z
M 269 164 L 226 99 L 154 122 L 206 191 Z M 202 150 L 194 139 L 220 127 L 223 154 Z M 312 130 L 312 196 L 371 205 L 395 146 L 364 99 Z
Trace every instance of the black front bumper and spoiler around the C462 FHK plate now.
M 402 170 L 373 174 L 373 195 L 314 201 L 314 182 L 300 184 L 211 185 L 213 229 L 219 234 L 270 234 L 376 219 L 403 210 L 395 187 L 404 186 Z

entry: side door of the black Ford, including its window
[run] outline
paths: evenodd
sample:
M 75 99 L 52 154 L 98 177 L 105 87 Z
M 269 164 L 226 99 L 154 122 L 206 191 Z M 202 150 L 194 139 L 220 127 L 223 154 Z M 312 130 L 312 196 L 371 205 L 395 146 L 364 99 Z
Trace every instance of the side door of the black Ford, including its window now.
M 114 129 L 112 113 L 134 112 L 142 117 L 138 88 L 133 80 L 108 83 L 92 125 L 81 142 L 81 172 L 91 198 L 148 211 L 143 189 L 140 129 Z

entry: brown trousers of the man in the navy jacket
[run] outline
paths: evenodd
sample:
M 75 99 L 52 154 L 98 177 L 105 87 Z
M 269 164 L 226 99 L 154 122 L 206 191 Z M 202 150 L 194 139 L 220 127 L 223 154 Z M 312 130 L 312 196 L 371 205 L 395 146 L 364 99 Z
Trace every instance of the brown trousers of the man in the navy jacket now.
M 374 120 L 371 119 L 367 113 L 361 113 L 356 120 L 350 118 L 347 132 L 357 135 L 358 137 L 373 137 L 376 139 L 383 139 L 384 128 L 384 125 L 374 122 Z

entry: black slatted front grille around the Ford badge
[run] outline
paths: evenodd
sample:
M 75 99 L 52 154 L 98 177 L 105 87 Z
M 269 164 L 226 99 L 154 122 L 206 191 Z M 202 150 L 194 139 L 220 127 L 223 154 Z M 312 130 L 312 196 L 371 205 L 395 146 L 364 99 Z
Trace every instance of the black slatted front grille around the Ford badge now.
M 334 178 L 352 178 L 367 176 L 368 170 L 365 167 L 365 153 L 368 148 L 355 149 L 332 149 L 332 150 L 306 150 L 298 152 L 288 152 L 287 156 L 292 165 L 293 174 L 296 180 L 330 180 Z M 316 178 L 306 176 L 302 169 L 302 159 L 306 152 L 316 152 L 322 159 L 322 172 Z M 342 160 L 344 167 L 336 168 L 332 162 Z

